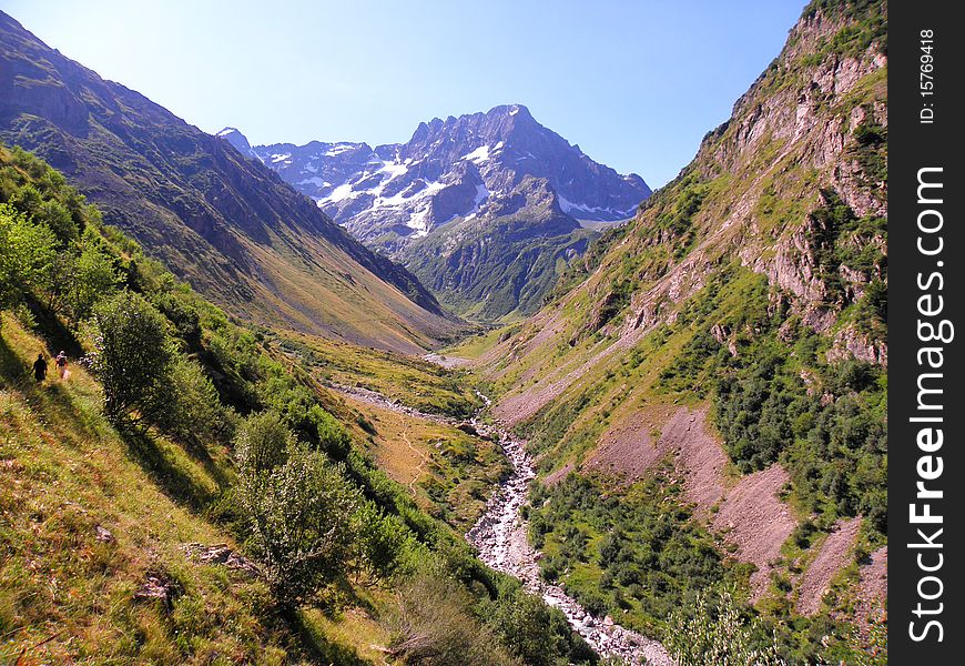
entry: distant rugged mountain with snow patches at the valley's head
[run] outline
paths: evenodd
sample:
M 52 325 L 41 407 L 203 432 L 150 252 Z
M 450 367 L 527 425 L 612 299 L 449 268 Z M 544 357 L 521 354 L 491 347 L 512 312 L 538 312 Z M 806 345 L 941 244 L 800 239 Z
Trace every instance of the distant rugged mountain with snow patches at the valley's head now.
M 406 264 L 447 304 L 496 320 L 542 305 L 562 266 L 650 195 L 636 175 L 593 162 L 520 104 L 420 123 L 407 143 L 251 150 L 369 248 Z

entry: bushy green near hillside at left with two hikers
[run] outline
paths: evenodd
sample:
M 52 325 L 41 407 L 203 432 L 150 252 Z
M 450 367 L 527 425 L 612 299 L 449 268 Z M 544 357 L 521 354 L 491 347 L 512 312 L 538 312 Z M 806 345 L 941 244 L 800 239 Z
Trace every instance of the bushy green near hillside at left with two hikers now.
M 2 147 L 0 240 L 0 663 L 597 662 L 463 538 L 505 458 L 458 375 L 232 323 Z

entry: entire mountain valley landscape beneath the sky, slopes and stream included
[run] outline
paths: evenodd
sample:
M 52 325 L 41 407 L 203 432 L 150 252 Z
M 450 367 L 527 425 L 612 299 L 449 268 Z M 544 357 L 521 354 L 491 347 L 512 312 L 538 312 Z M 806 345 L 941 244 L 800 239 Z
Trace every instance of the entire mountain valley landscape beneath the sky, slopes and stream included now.
M 883 4 L 656 192 L 522 104 L 207 134 L 2 12 L 0 95 L 0 666 L 887 663 Z

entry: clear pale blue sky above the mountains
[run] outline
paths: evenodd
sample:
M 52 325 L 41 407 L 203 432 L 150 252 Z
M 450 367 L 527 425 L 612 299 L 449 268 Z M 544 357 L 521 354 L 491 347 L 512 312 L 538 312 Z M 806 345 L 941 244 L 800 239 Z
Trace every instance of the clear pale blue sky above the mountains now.
M 0 0 L 51 47 L 253 144 L 404 142 L 526 104 L 664 184 L 778 56 L 804 0 Z

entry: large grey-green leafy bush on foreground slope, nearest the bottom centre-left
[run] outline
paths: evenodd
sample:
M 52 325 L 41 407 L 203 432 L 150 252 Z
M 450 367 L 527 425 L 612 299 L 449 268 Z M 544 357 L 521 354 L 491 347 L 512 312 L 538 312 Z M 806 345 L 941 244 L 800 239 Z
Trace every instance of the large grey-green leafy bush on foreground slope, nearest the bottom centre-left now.
M 236 497 L 250 522 L 252 551 L 275 599 L 294 608 L 344 573 L 358 493 L 276 415 L 246 420 L 235 455 Z

